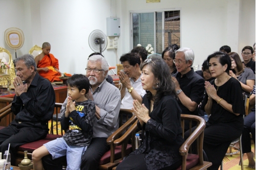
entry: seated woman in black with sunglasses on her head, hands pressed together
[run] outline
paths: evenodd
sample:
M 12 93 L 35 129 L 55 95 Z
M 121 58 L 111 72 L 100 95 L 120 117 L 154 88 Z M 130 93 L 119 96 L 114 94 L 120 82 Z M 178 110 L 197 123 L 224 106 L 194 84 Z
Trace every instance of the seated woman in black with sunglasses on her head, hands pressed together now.
M 118 166 L 127 169 L 177 169 L 181 165 L 179 148 L 184 142 L 175 84 L 162 59 L 147 59 L 140 66 L 141 83 L 147 93 L 142 105 L 134 100 L 138 129 L 144 130 L 140 147 Z

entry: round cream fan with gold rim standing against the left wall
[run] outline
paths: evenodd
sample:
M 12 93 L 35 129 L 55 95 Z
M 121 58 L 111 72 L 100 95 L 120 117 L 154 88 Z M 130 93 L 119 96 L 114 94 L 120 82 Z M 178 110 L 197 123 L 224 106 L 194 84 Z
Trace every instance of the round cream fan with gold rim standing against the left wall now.
M 10 40 L 10 34 L 17 34 L 18 37 L 19 37 L 19 42 L 17 45 L 13 45 L 11 43 L 11 40 Z M 23 34 L 23 31 L 18 29 L 18 28 L 9 28 L 5 31 L 5 42 L 7 43 L 7 45 L 14 49 L 14 50 L 17 50 L 19 48 L 21 48 L 24 44 L 24 34 Z

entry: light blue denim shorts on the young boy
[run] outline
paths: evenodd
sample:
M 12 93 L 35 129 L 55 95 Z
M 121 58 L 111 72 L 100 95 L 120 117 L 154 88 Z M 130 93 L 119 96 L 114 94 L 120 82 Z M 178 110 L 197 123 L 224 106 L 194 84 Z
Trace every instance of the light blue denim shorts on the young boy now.
M 80 169 L 81 157 L 87 150 L 87 147 L 67 144 L 62 137 L 49 141 L 44 146 L 52 155 L 52 159 L 67 155 L 67 170 Z

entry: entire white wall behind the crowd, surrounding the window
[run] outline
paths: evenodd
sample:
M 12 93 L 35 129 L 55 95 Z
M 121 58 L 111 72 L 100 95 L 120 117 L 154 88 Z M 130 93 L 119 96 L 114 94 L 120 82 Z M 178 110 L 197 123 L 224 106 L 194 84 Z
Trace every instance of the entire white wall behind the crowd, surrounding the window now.
M 15 57 L 15 51 L 5 43 L 4 32 L 17 27 L 25 35 L 17 56 L 28 53 L 35 44 L 50 42 L 60 71 L 70 74 L 85 73 L 88 56 L 93 53 L 88 37 L 93 30 L 106 34 L 106 17 L 116 15 L 121 21 L 118 57 L 131 51 L 130 11 L 179 8 L 181 46 L 194 50 L 194 65 L 201 65 L 222 45 L 241 54 L 243 46 L 255 42 L 254 0 L 0 0 L 0 7 L 0 46 Z M 115 50 L 105 50 L 103 55 L 116 66 Z

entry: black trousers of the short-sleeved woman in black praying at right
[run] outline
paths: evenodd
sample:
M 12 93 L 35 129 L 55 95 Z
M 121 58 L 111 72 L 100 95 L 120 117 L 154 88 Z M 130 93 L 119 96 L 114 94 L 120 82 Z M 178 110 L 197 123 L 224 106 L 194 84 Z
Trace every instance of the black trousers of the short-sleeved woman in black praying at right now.
M 195 129 L 196 127 L 192 128 L 192 131 Z M 239 138 L 241 134 L 242 130 L 229 124 L 219 123 L 211 125 L 206 122 L 203 150 L 207 155 L 208 161 L 212 163 L 210 166 L 211 170 L 219 169 L 229 144 L 232 140 Z M 184 139 L 188 136 L 189 132 L 187 131 L 184 134 Z

